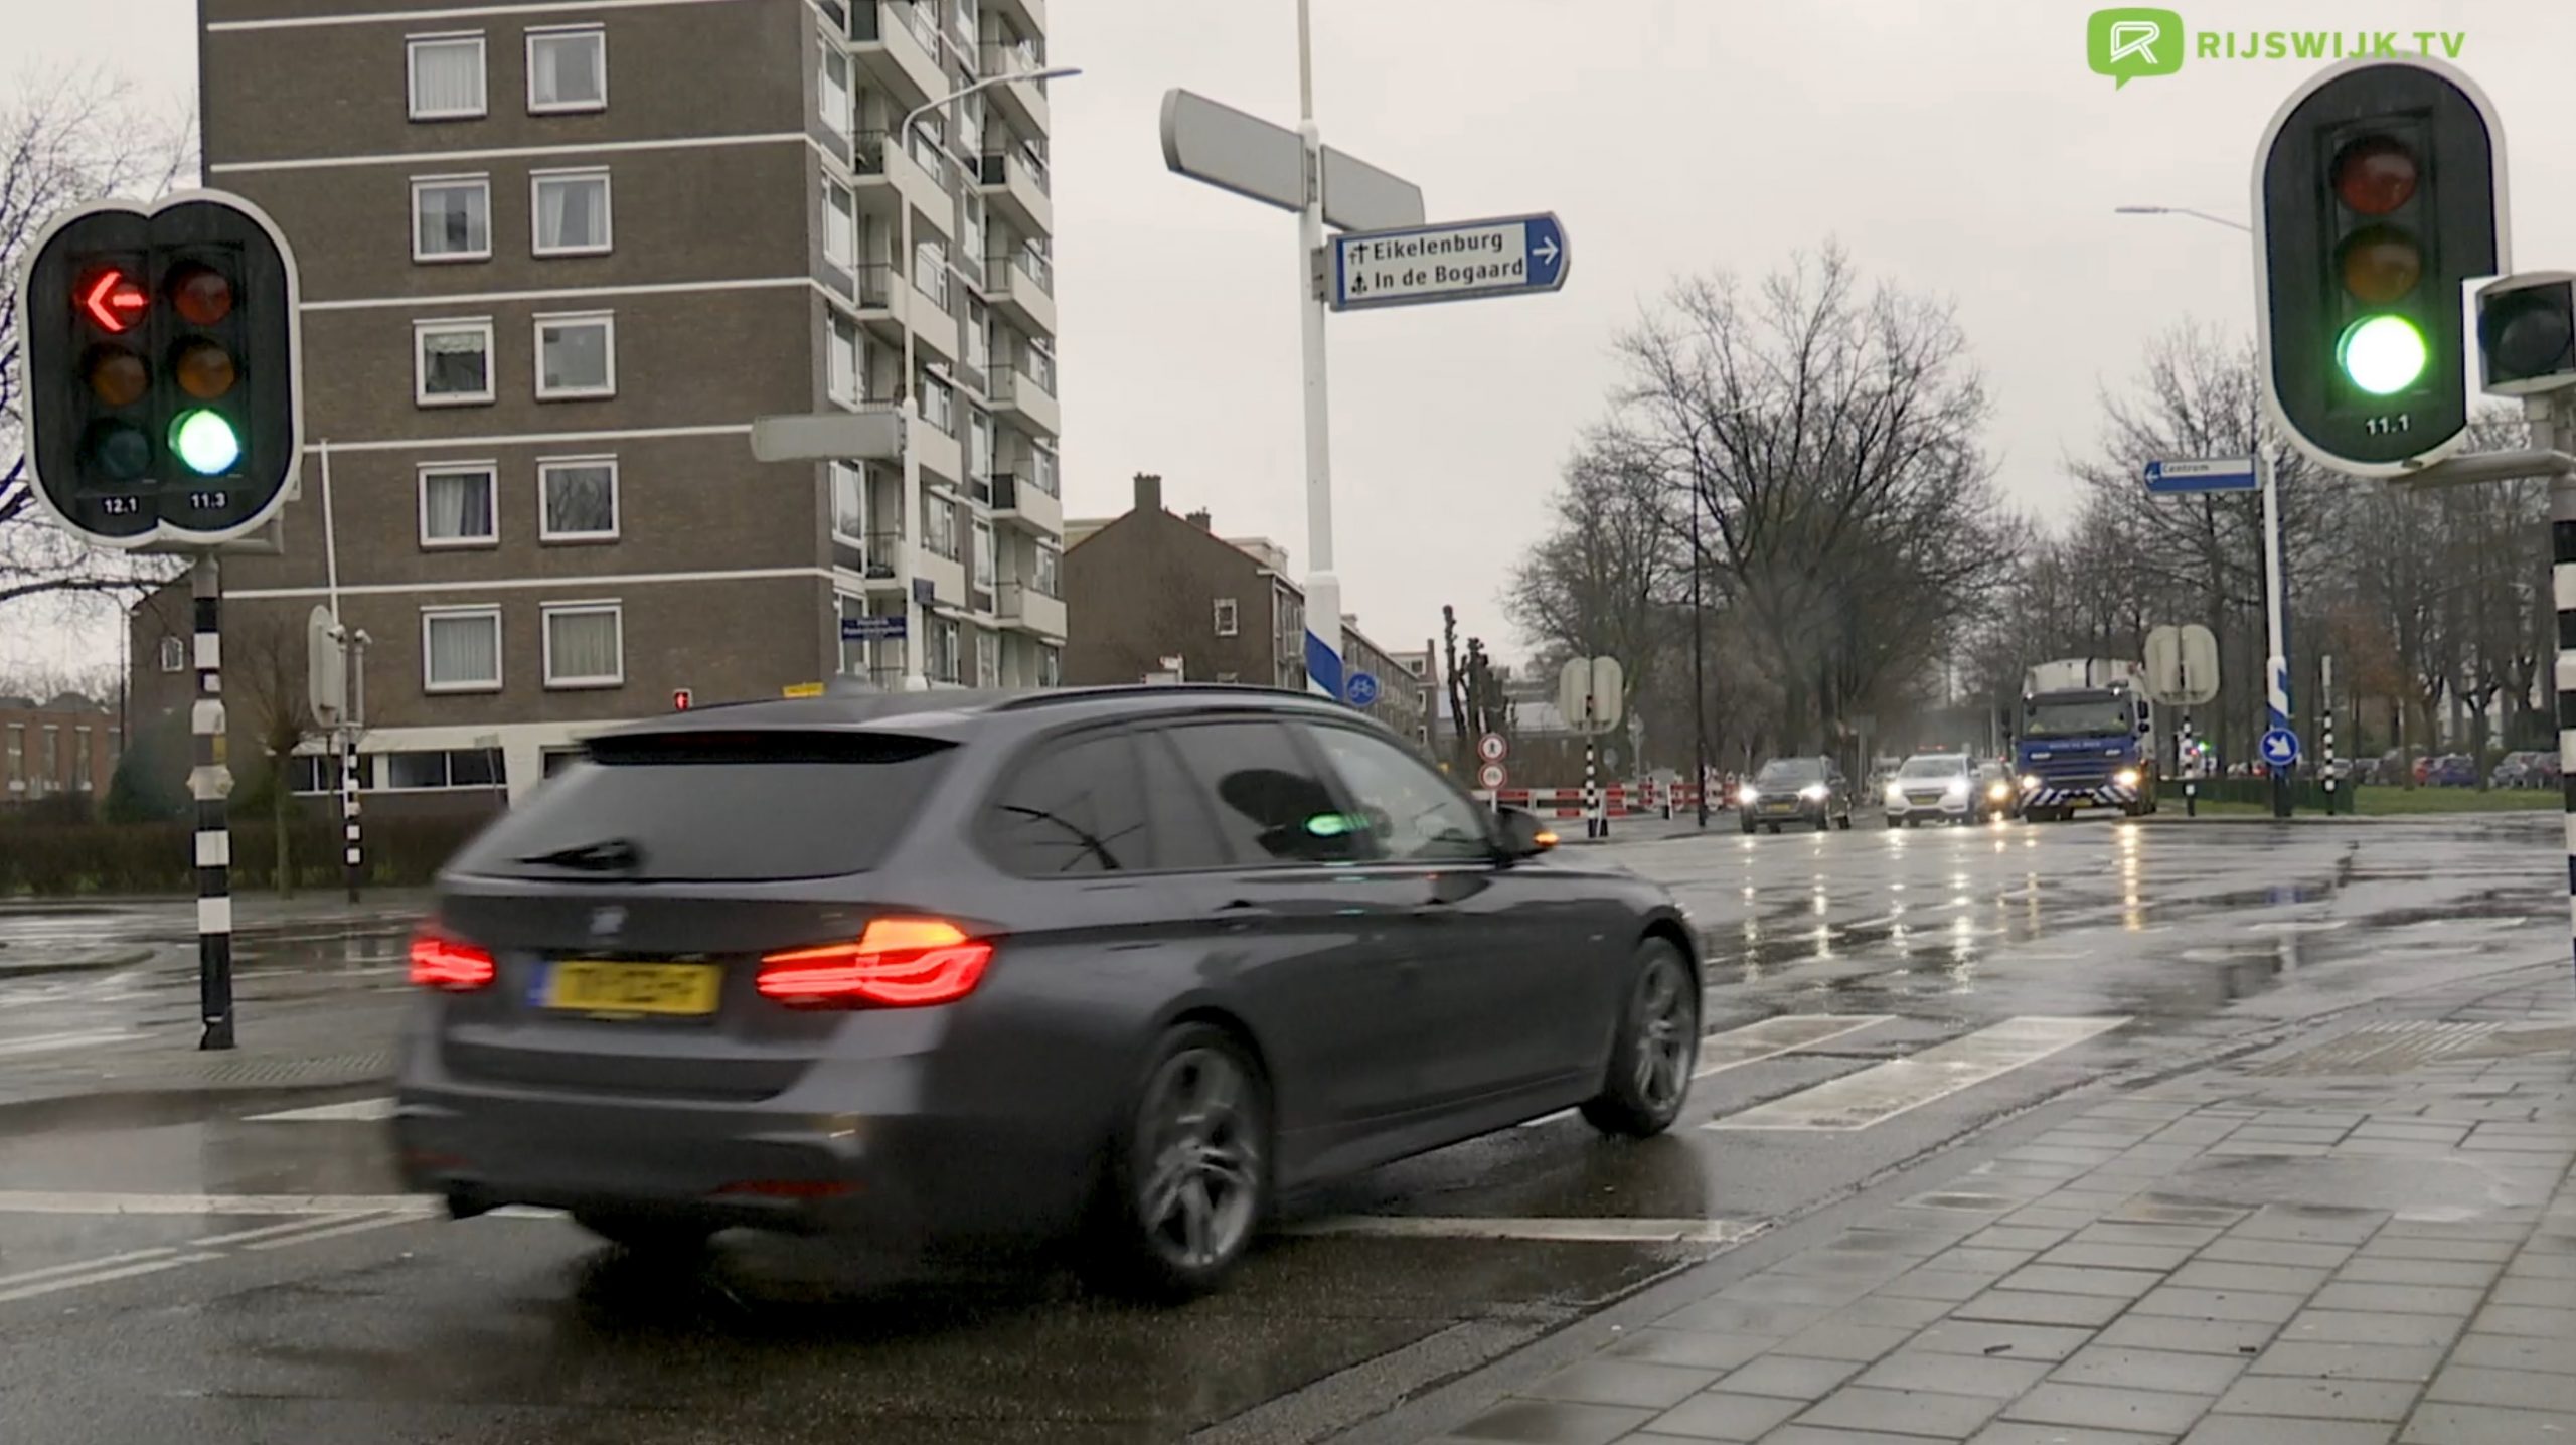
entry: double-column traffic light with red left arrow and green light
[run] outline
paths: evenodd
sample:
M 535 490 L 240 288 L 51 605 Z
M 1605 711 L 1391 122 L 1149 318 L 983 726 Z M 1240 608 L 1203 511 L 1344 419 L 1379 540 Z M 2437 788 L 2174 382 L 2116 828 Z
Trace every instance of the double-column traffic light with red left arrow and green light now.
M 28 469 L 100 546 L 188 551 L 286 505 L 304 448 L 296 265 L 258 206 L 100 203 L 39 237 L 18 286 Z

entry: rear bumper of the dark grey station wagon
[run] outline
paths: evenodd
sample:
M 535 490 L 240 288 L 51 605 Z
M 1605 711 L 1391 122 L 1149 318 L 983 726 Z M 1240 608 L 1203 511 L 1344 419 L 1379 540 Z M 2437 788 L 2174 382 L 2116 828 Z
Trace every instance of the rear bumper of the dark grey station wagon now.
M 415 1041 L 392 1133 L 404 1185 L 459 1216 L 538 1205 L 860 1234 L 894 1252 L 1069 1229 L 1095 1138 L 933 1113 L 925 1074 L 925 1056 L 822 1059 L 757 1102 L 574 1095 L 456 1079 Z

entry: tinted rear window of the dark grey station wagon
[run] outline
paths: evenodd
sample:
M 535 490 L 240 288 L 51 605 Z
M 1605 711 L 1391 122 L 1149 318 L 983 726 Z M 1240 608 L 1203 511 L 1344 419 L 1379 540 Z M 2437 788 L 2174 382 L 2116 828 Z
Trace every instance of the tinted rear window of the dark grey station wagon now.
M 456 855 L 482 878 L 739 883 L 884 863 L 953 744 L 876 732 L 608 737 Z

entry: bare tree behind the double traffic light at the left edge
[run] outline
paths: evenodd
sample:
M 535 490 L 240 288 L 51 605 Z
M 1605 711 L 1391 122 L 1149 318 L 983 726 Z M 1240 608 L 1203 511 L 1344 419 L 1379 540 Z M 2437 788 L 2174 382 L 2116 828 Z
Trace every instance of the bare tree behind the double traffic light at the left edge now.
M 144 113 L 100 75 L 39 77 L 0 103 L 0 276 L 15 278 L 44 227 L 108 196 L 160 196 L 196 175 L 193 106 Z M 18 296 L 0 291 L 0 605 L 26 598 L 124 595 L 170 574 L 167 559 L 98 554 L 41 525 L 18 417 Z

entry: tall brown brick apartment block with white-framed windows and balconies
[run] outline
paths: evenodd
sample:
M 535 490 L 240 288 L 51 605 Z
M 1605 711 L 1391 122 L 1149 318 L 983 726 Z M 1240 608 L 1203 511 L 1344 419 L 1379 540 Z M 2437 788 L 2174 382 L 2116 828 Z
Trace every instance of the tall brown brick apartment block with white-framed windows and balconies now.
M 366 786 L 518 793 L 680 693 L 1056 683 L 1048 98 L 997 80 L 1043 0 L 198 13 L 209 185 L 304 278 L 304 484 L 227 605 L 371 636 Z M 829 410 L 907 440 L 752 458 Z

